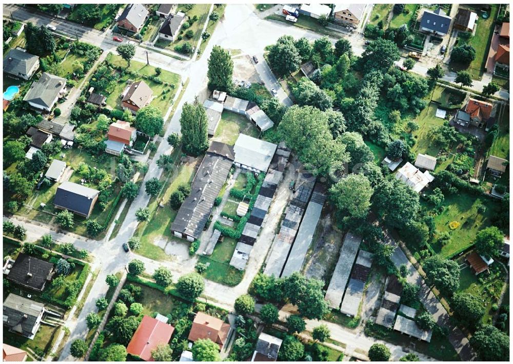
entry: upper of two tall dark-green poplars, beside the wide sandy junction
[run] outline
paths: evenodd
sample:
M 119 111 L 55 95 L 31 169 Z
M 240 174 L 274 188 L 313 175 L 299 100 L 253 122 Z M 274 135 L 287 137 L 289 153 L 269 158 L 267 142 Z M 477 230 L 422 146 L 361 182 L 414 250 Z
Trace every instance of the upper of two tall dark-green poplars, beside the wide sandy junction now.
M 230 52 L 214 46 L 208 59 L 208 88 L 228 91 L 232 85 L 233 61 Z

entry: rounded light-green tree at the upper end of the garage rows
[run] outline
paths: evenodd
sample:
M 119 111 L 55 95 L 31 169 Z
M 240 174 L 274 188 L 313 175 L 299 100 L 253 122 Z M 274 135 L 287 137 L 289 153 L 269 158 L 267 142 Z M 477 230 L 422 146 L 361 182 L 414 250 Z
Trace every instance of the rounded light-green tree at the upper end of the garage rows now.
M 367 177 L 350 174 L 331 186 L 329 196 L 345 216 L 364 219 L 369 212 L 372 192 Z

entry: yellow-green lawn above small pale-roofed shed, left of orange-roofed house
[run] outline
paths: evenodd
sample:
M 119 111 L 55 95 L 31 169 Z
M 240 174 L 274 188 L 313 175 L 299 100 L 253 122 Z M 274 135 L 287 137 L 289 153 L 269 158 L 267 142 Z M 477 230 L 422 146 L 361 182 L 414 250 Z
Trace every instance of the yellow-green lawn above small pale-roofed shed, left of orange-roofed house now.
M 428 154 L 430 156 L 437 156 L 441 146 L 433 143 L 429 137 L 429 130 L 433 126 L 443 125 L 444 119 L 437 118 L 437 105 L 430 103 L 428 107 L 424 108 L 420 114 L 415 118 L 415 122 L 419 125 L 419 129 L 413 132 L 413 139 L 416 140 L 415 145 L 411 150 L 417 154 Z

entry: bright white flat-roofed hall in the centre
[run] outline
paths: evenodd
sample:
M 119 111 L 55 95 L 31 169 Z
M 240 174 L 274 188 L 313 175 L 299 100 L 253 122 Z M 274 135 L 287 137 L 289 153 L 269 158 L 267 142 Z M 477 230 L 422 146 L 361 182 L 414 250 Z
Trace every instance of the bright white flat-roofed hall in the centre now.
M 233 146 L 234 162 L 266 172 L 277 147 L 276 144 L 239 134 Z

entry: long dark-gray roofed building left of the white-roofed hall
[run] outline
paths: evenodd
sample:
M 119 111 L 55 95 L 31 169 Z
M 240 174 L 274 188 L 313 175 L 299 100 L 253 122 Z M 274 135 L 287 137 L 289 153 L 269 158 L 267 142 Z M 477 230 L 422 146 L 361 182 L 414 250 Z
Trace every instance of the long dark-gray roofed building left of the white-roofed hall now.
M 233 148 L 212 142 L 194 176 L 191 193 L 182 203 L 171 225 L 171 232 L 189 241 L 198 239 L 207 223 L 214 200 L 233 164 Z

